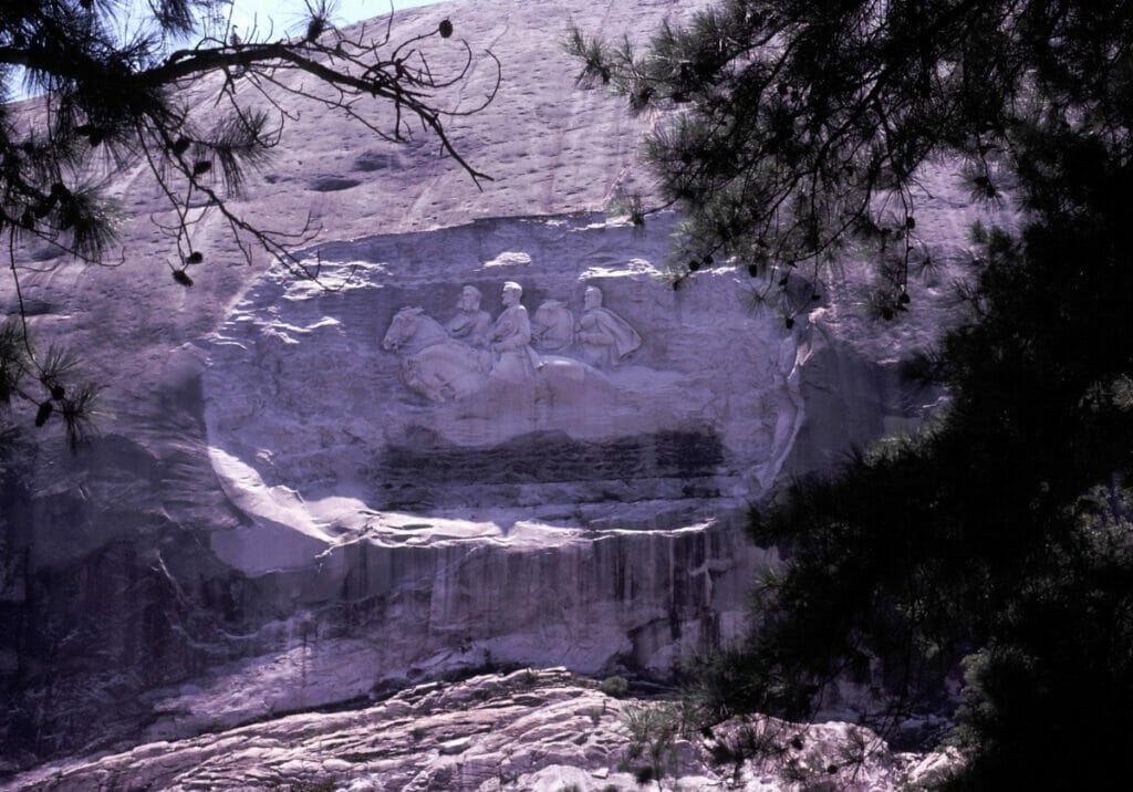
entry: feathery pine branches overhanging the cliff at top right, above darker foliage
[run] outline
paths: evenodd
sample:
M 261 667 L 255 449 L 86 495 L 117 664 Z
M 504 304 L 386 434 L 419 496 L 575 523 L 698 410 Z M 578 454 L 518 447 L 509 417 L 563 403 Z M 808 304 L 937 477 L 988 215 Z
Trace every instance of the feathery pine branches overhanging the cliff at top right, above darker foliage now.
M 1113 134 L 1131 10 L 725 0 L 641 50 L 577 28 L 566 49 L 580 83 L 613 86 L 631 112 L 662 111 L 646 156 L 687 218 L 684 259 L 735 254 L 760 273 L 817 274 L 867 242 L 893 264 L 891 298 L 904 305 L 919 168 L 960 156 L 973 197 L 997 201 L 1036 125 Z

